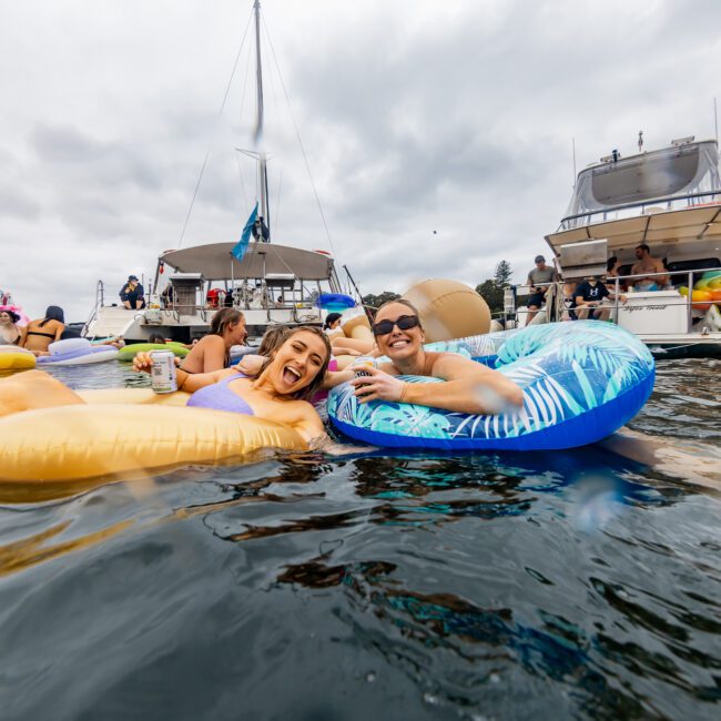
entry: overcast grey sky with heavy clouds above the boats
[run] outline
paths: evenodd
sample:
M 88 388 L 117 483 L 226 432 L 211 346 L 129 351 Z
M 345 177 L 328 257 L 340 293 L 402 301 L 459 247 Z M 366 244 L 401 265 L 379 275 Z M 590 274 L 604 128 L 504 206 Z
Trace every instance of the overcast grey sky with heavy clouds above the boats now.
M 0 0 L 0 287 L 85 319 L 254 204 L 251 0 Z M 332 250 L 364 293 L 521 281 L 580 170 L 714 135 L 721 2 L 265 0 L 274 240 Z M 244 94 L 244 87 L 245 94 Z M 721 104 L 721 102 L 720 102 Z M 435 231 L 435 233 L 434 233 Z

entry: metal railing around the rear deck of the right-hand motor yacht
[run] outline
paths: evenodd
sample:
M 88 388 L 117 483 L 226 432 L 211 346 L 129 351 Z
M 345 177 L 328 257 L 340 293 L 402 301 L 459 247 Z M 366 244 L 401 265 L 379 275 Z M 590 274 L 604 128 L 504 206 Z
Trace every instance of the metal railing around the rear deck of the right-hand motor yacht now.
M 674 298 L 673 296 L 669 297 L 668 295 L 663 296 L 662 305 L 663 307 L 683 306 L 686 308 L 686 332 L 692 333 L 694 323 L 700 319 L 694 315 L 694 311 L 698 311 L 700 312 L 700 314 L 702 314 L 703 312 L 708 311 L 711 307 L 711 305 L 714 304 L 713 299 L 693 297 L 694 277 L 698 277 L 703 273 L 708 273 L 709 271 L 721 272 L 721 266 L 698 267 L 698 268 L 694 267 L 688 270 L 684 268 L 682 271 L 664 270 L 658 273 L 636 273 L 636 274 L 619 275 L 613 277 L 606 277 L 605 280 L 600 280 L 599 282 L 603 283 L 606 287 L 609 288 L 609 291 L 611 291 L 611 286 L 612 286 L 611 295 L 613 297 L 612 301 L 602 303 L 600 305 L 600 308 L 610 309 L 609 321 L 611 321 L 612 323 L 618 323 L 620 308 L 629 299 L 634 298 L 634 296 L 638 296 L 640 294 L 649 295 L 649 297 L 643 302 L 640 302 L 640 298 L 636 299 L 633 303 L 633 306 L 636 308 L 658 309 L 659 301 L 661 298 L 654 298 L 653 295 L 656 293 L 660 291 L 679 292 L 679 288 L 686 287 L 688 290 L 688 293 L 687 294 L 679 293 L 678 298 Z M 679 277 L 682 277 L 683 282 L 679 282 Z M 659 284 L 660 287 L 644 291 L 643 288 L 634 287 L 634 281 L 639 281 L 641 278 L 643 280 L 659 278 L 660 281 L 663 281 L 666 278 L 666 282 L 660 283 Z M 573 292 L 576 291 L 576 285 L 577 285 L 576 281 L 563 281 L 563 280 L 550 282 L 550 283 L 534 284 L 532 287 L 552 288 L 552 293 L 550 294 L 551 308 L 549 309 L 548 304 L 545 304 L 547 316 L 549 317 L 549 319 L 551 321 L 569 319 L 568 316 L 570 311 L 573 311 L 575 313 L 578 312 L 578 308 L 575 307 L 575 296 L 573 296 Z M 573 287 L 569 287 L 569 286 L 573 286 Z M 518 296 L 522 297 L 531 293 L 530 290 L 531 286 L 528 285 L 517 285 L 517 286 L 511 286 L 511 288 L 515 298 L 517 298 Z M 514 305 L 517 306 L 517 303 L 514 303 Z M 522 313 L 524 311 L 517 308 L 516 313 L 518 314 L 519 312 Z M 528 313 L 528 311 L 526 312 Z M 506 313 L 506 315 L 508 315 L 508 313 Z

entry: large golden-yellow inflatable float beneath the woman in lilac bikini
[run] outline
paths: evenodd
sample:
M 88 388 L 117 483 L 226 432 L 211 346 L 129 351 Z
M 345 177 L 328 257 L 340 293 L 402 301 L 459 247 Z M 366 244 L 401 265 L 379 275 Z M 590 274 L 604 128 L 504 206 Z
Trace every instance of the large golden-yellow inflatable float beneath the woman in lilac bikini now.
M 38 497 L 47 497 L 45 486 L 72 486 L 180 464 L 214 464 L 261 448 L 306 448 L 287 426 L 186 408 L 186 393 L 156 395 L 149 388 L 121 388 L 80 395 L 87 405 L 23 410 L 0 418 L 0 485 L 32 485 Z

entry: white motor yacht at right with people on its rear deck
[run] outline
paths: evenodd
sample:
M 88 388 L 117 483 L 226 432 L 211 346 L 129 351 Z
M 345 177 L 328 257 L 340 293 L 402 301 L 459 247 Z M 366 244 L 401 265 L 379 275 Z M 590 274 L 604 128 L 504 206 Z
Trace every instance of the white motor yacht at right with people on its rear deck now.
M 606 260 L 618 257 L 619 277 L 610 283 L 627 302 L 613 303 L 611 319 L 657 356 L 719 355 L 718 306 L 686 294 L 704 273 L 721 271 L 718 142 L 690 136 L 661 150 L 641 148 L 639 134 L 638 153 L 622 158 L 613 151 L 578 173 L 566 215 L 546 241 L 568 284 L 606 274 Z M 663 263 L 657 288 L 634 288 L 640 276 L 631 267 L 640 244 Z

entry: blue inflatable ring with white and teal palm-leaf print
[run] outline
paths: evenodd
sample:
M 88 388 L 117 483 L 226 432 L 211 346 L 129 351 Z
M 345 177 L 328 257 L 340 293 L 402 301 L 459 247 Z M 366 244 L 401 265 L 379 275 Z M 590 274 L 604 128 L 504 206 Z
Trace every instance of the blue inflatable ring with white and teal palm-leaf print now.
M 353 386 L 344 384 L 328 396 L 333 425 L 374 446 L 573 448 L 596 443 L 626 425 L 653 389 L 656 368 L 648 348 L 627 331 L 601 321 L 537 325 L 447 345 L 439 349 L 464 348 L 515 380 L 524 390 L 524 407 L 490 416 L 402 403 L 359 404 Z

